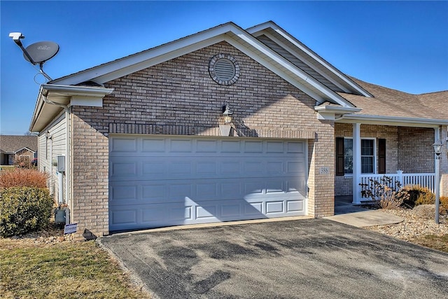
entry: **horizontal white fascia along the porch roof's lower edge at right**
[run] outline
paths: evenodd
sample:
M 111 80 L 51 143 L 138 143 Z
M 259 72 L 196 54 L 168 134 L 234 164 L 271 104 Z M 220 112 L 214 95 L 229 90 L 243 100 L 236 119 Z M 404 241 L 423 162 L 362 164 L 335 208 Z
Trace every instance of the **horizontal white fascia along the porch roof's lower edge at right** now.
M 336 123 L 361 123 L 366 125 L 392 125 L 401 127 L 439 127 L 440 125 L 448 125 L 448 120 L 345 114 L 341 118 L 337 118 Z

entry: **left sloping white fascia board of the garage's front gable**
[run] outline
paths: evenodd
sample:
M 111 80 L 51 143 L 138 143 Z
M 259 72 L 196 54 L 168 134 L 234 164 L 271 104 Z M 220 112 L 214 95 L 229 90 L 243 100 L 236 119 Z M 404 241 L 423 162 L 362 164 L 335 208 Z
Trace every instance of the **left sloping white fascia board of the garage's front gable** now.
M 214 39 L 216 36 L 221 34 L 225 34 L 226 32 L 230 32 L 236 28 L 236 25 L 232 23 L 228 23 L 222 26 L 214 27 L 204 32 L 199 32 L 197 34 L 193 34 L 191 36 L 186 36 L 182 39 L 172 41 L 169 43 L 165 43 L 164 45 L 157 46 L 155 48 L 151 48 L 148 50 L 144 50 L 141 53 L 133 54 L 127 57 L 120 58 L 118 60 L 114 60 L 112 62 L 107 62 L 106 64 L 99 65 L 97 67 L 92 67 L 91 69 L 87 69 L 85 71 L 80 71 L 77 74 L 73 74 L 70 76 L 66 76 L 60 79 L 56 79 L 52 81 L 52 83 L 64 84 L 64 85 L 72 85 L 78 84 L 85 81 L 94 80 L 95 78 L 102 78 L 102 82 L 107 82 L 108 74 L 115 73 L 116 76 L 109 76 L 110 78 L 119 78 L 120 69 L 127 69 L 127 67 L 131 67 L 135 64 L 139 64 L 139 67 L 145 68 L 144 62 L 147 60 L 151 60 L 157 56 L 165 55 L 169 52 L 179 50 L 181 48 L 186 48 L 188 46 L 192 46 L 195 43 L 200 43 L 202 41 L 206 41 L 208 39 Z M 142 64 L 143 63 L 143 64 Z M 151 64 L 149 64 L 151 66 Z M 132 69 L 135 71 L 135 69 Z M 125 73 L 126 74 L 126 71 Z M 131 73 L 128 73 L 131 74 Z M 112 79 L 113 80 L 113 79 Z M 94 80 L 95 81 L 95 80 Z M 95 81 L 97 82 L 97 81 Z M 99 82 L 97 82 L 99 83 Z

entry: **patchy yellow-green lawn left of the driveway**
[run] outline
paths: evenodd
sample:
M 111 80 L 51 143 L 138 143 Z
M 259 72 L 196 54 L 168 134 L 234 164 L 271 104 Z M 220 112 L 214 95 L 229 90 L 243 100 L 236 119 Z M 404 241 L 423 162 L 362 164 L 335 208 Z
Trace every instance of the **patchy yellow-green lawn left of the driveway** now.
M 93 241 L 0 239 L 0 298 L 148 298 Z

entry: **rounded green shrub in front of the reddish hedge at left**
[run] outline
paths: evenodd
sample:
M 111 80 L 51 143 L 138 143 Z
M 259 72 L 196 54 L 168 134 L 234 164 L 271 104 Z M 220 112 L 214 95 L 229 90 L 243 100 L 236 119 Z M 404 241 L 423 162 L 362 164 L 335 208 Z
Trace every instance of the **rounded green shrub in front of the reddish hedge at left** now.
M 53 200 L 46 188 L 0 189 L 0 236 L 40 230 L 50 221 Z

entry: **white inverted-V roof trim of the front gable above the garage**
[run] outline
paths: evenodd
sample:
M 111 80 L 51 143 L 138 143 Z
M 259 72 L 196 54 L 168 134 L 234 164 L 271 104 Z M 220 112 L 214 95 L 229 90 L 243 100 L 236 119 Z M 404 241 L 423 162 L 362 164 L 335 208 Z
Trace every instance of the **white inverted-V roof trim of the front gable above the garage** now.
M 172 60 L 221 41 L 227 41 L 242 53 L 316 99 L 318 103 L 332 102 L 341 106 L 351 106 L 343 97 L 337 95 L 337 93 L 316 80 L 316 78 L 307 74 L 306 71 L 300 69 L 279 53 L 276 53 L 272 48 L 269 48 L 265 43 L 262 43 L 255 36 L 252 36 L 233 22 L 228 22 L 134 55 L 50 81 L 49 84 L 79 85 L 85 81 L 93 81 L 102 85 L 116 78 Z

